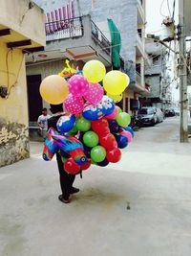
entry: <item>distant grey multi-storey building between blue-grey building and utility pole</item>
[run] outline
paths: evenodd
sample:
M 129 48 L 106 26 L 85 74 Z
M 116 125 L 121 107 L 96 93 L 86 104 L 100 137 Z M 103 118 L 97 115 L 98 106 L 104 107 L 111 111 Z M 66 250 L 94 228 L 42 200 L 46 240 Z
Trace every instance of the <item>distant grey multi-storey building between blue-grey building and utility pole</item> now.
M 151 66 L 145 68 L 145 82 L 150 84 L 150 95 L 142 105 L 165 109 L 172 104 L 171 79 L 167 68 L 167 53 L 164 46 L 153 39 L 146 40 L 146 52 Z

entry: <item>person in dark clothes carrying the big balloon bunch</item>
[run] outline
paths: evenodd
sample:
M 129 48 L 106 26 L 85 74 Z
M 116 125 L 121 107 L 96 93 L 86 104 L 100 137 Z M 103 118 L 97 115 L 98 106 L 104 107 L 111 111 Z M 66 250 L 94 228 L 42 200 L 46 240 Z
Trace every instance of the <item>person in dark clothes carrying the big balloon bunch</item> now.
M 48 128 L 56 128 L 58 119 L 64 114 L 62 105 L 51 105 L 50 110 L 53 113 L 53 117 L 48 119 Z M 57 167 L 60 176 L 60 187 L 62 194 L 59 195 L 58 199 L 61 202 L 69 203 L 70 195 L 79 192 L 79 189 L 73 187 L 75 175 L 69 175 L 64 170 L 64 164 L 62 162 L 59 153 L 56 153 Z

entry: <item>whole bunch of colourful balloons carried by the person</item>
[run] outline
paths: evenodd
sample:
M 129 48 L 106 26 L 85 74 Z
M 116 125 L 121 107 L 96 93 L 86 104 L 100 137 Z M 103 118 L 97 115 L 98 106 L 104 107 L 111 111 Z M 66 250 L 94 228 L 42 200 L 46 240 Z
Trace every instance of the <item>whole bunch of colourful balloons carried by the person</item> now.
M 90 166 L 89 159 L 92 164 L 98 166 L 107 166 L 110 162 L 117 163 L 121 158 L 120 149 L 127 147 L 134 136 L 133 129 L 128 127 L 131 122 L 130 115 L 122 112 L 115 104 L 122 99 L 122 93 L 129 84 L 128 76 L 120 71 L 110 71 L 106 74 L 105 66 L 98 60 L 88 61 L 82 74 L 72 76 L 67 88 L 64 81 L 65 94 L 62 102 L 68 114 L 58 120 L 58 134 L 52 134 L 55 133 L 53 130 L 49 131 L 44 149 L 45 160 L 48 145 L 51 145 L 50 153 L 53 154 L 55 148 L 62 156 L 65 152 L 66 156 L 66 139 L 70 140 L 70 144 L 76 144 L 78 140 L 80 151 L 77 151 L 77 159 L 85 157 L 86 162 L 77 162 L 73 153 L 63 158 L 64 168 L 71 174 L 87 169 Z M 98 83 L 100 81 L 103 86 Z M 58 84 L 53 83 L 50 87 L 50 82 L 49 86 L 46 86 L 46 82 L 42 81 L 40 85 L 42 98 L 45 101 L 49 98 L 50 103 L 60 104 Z M 49 97 L 46 97 L 47 94 Z

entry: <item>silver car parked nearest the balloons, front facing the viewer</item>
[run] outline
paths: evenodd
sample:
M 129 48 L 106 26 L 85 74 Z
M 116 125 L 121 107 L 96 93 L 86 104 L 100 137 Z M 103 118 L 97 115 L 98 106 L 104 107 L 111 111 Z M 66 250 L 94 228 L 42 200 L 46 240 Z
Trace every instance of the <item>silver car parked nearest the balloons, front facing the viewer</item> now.
M 158 122 L 157 108 L 148 106 L 138 110 L 138 118 L 143 125 L 155 126 Z

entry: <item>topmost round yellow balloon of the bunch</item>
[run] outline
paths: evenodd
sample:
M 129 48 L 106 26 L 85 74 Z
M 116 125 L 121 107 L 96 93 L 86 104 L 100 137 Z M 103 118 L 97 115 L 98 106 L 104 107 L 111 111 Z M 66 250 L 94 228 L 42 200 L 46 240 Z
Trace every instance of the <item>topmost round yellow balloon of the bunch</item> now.
M 105 66 L 96 59 L 88 61 L 82 71 L 84 77 L 93 83 L 102 81 L 106 74 Z

